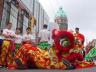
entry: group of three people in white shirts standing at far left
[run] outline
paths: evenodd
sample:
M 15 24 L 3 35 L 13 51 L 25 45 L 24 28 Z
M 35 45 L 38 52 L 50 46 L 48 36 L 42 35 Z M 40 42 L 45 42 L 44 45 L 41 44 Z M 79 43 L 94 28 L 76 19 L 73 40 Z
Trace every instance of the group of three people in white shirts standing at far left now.
M 12 30 L 12 23 L 6 25 L 6 29 L 0 31 L 0 65 L 6 66 L 6 58 L 12 54 L 15 55 L 23 43 L 35 43 L 35 36 L 31 34 L 28 27 L 26 33 L 21 35 L 21 29 L 16 28 L 16 32 Z M 12 52 L 9 52 L 12 51 Z M 11 54 L 10 54 L 11 53 Z

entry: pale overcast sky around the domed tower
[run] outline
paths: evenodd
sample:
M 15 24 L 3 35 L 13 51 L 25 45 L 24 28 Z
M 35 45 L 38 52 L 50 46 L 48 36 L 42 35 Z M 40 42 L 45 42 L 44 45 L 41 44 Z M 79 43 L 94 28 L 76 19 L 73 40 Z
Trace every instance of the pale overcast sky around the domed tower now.
M 45 11 L 54 20 L 59 7 L 67 14 L 69 29 L 79 27 L 88 40 L 96 38 L 96 0 L 39 0 Z

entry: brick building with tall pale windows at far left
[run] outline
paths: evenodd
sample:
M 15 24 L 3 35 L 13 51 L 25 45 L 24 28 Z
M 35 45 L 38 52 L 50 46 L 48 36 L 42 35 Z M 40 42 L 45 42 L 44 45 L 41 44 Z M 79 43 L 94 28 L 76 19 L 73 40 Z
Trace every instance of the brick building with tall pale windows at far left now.
M 21 0 L 0 1 L 0 28 L 5 28 L 8 22 L 12 23 L 12 29 L 17 27 L 21 33 L 25 33 L 30 25 L 32 13 Z

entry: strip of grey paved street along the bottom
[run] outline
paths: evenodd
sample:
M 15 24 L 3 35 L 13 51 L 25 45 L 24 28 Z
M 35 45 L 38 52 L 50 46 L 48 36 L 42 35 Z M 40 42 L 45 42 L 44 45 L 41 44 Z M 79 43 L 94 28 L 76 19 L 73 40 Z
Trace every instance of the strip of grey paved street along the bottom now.
M 96 67 L 86 69 L 75 69 L 75 70 L 8 70 L 1 68 L 0 72 L 96 72 Z

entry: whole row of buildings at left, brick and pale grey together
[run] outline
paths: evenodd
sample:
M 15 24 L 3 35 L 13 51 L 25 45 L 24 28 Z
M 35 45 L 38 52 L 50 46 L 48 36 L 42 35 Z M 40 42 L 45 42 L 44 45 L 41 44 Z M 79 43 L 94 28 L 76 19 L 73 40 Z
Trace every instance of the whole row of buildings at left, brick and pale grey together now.
M 20 27 L 21 33 L 28 26 L 39 32 L 49 17 L 38 0 L 0 0 L 0 28 L 6 28 L 8 22 L 13 24 L 13 30 Z

